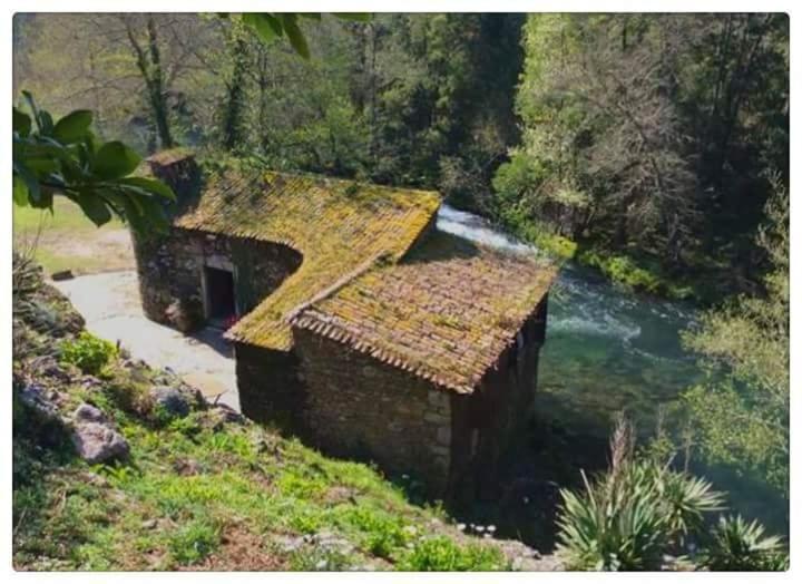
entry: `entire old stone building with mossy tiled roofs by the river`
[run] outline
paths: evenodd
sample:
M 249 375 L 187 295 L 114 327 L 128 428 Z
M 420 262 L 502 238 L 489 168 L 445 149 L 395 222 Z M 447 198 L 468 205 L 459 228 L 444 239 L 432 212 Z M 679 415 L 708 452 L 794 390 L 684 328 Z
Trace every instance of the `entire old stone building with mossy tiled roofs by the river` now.
M 243 413 L 437 496 L 486 486 L 530 409 L 552 265 L 439 232 L 433 192 L 148 163 L 178 201 L 136 241 L 145 312 L 226 329 Z

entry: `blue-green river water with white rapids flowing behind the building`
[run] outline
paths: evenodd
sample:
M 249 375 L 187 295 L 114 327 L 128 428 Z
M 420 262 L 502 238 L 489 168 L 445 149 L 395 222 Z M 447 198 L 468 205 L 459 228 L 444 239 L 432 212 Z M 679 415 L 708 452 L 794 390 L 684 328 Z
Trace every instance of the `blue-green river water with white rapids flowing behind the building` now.
M 511 253 L 537 253 L 486 220 L 448 205 L 440 208 L 438 228 Z M 538 413 L 605 440 L 617 412 L 626 411 L 640 435 L 654 434 L 659 408 L 704 376 L 696 356 L 681 342 L 681 332 L 694 324 L 694 318 L 687 304 L 633 294 L 568 262 L 549 296 Z M 698 464 L 695 470 L 728 490 L 733 506 L 744 515 L 788 532 L 786 504 L 759 477 Z

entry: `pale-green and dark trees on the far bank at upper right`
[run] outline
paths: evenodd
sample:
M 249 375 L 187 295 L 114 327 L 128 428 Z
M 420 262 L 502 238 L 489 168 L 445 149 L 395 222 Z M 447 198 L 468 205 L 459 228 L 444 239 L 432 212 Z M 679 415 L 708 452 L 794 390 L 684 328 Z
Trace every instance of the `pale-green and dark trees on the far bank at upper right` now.
M 594 247 L 629 285 L 703 295 L 672 283 L 682 274 L 743 290 L 761 271 L 749 237 L 765 171 L 788 177 L 788 39 L 782 14 L 530 14 L 521 143 L 483 208 Z M 671 278 L 620 260 L 633 249 Z

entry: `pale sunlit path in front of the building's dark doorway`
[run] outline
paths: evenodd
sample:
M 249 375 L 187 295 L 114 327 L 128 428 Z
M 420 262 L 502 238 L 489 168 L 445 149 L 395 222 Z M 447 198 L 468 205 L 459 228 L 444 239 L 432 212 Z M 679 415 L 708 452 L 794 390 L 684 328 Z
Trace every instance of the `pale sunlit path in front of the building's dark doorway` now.
M 204 329 L 186 337 L 145 318 L 136 272 L 106 272 L 53 282 L 86 319 L 87 329 L 109 341 L 120 341 L 135 359 L 169 367 L 204 396 L 237 411 L 233 351 L 221 332 Z

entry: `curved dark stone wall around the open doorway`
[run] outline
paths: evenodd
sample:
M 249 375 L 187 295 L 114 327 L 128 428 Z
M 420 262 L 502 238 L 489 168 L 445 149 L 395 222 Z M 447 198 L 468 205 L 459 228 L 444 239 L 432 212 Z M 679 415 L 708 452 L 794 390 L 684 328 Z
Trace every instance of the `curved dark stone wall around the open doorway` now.
M 274 243 L 172 227 L 167 234 L 134 237 L 145 314 L 192 330 L 205 319 L 204 266 L 234 272 L 237 314 L 253 310 L 301 265 L 294 250 Z M 178 304 L 184 318 L 170 306 Z

